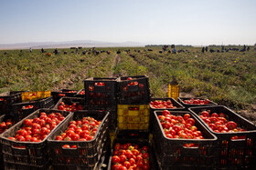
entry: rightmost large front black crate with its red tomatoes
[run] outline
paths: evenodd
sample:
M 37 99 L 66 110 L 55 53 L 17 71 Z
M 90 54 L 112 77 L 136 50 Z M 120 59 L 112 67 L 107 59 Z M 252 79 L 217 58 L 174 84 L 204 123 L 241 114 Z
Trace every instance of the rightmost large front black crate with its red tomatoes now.
M 256 168 L 256 126 L 223 105 L 191 107 L 189 110 L 218 137 L 217 165 Z

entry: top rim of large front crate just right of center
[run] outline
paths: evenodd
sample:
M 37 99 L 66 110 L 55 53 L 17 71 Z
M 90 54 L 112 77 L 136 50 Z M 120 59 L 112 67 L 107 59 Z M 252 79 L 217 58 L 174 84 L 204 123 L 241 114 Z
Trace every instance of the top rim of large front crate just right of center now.
M 162 110 L 163 111 L 163 110 Z M 183 113 L 187 113 L 187 114 L 190 114 L 190 115 L 192 115 L 193 117 L 192 118 L 194 118 L 195 120 L 197 120 L 197 122 L 198 122 L 198 124 L 201 124 L 204 128 L 206 128 L 206 130 L 208 131 L 208 134 L 209 135 L 212 135 L 212 139 L 183 139 L 183 138 L 167 138 L 166 136 L 165 136 L 165 132 L 164 132 L 164 129 L 163 129 L 163 127 L 161 126 L 161 123 L 160 123 L 160 121 L 159 121 L 159 119 L 158 119 L 158 116 L 157 116 L 157 114 L 156 113 L 160 113 L 161 111 L 160 110 L 157 110 L 157 111 L 154 111 L 154 115 L 155 115 L 155 118 L 156 118 L 156 121 L 157 121 L 157 123 L 158 123 L 158 125 L 160 126 L 160 129 L 161 129 L 161 132 L 162 132 L 162 135 L 165 137 L 165 140 L 169 140 L 169 141 L 182 141 L 182 142 L 194 142 L 194 143 L 200 143 L 200 142 L 204 142 L 204 141 L 211 141 L 211 142 L 214 142 L 214 141 L 217 141 L 218 140 L 218 138 L 217 138 L 217 136 L 216 135 L 214 135 L 214 134 L 212 134 L 212 133 L 210 133 L 210 131 L 208 130 L 208 128 L 206 128 L 205 127 L 205 125 L 203 125 L 198 119 L 197 119 L 197 116 L 196 115 L 194 115 L 193 113 L 191 113 L 191 112 L 189 112 L 189 111 L 169 111 L 170 112 L 170 114 L 183 114 Z

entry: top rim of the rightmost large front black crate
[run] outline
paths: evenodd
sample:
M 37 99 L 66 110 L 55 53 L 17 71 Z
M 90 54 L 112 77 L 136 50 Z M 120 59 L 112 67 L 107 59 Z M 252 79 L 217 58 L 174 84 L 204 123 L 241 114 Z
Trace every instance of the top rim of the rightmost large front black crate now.
M 210 108 L 210 107 L 222 107 L 222 108 L 225 108 L 227 110 L 229 110 L 229 112 L 231 112 L 232 114 L 235 114 L 237 116 L 239 116 L 241 119 L 243 119 L 244 121 L 246 121 L 248 124 L 251 124 L 255 127 L 255 130 L 251 130 L 251 131 L 244 131 L 244 132 L 233 132 L 233 133 L 216 133 L 214 132 L 205 122 L 203 122 L 203 120 L 199 117 L 199 115 L 197 115 L 192 109 L 193 108 Z M 210 133 L 214 134 L 214 135 L 243 135 L 243 134 L 252 134 L 252 133 L 255 133 L 256 134 L 256 125 L 252 124 L 249 120 L 247 120 L 246 118 L 242 117 L 241 115 L 238 115 L 237 113 L 235 113 L 234 111 L 232 111 L 231 109 L 229 109 L 229 107 L 225 106 L 225 105 L 208 105 L 208 106 L 198 106 L 198 107 L 190 107 L 188 108 L 188 110 L 193 113 L 194 115 L 197 116 L 197 119 L 199 119 L 203 125 L 205 125 L 208 130 L 210 131 Z M 240 140 L 243 140 L 243 139 L 237 139 L 236 141 L 240 141 Z

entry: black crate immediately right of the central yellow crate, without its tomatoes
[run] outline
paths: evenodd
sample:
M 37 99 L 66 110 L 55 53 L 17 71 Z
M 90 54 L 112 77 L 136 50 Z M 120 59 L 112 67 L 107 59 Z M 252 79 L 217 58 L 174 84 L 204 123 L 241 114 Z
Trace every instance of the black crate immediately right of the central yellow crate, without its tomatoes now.
M 156 100 L 162 100 L 162 101 L 167 101 L 170 100 L 172 105 L 176 106 L 176 108 L 155 108 L 152 106 L 151 102 L 155 102 Z M 152 132 L 152 125 L 153 125 L 153 118 L 154 118 L 154 112 L 157 110 L 169 110 L 169 111 L 184 111 L 185 107 L 178 103 L 176 99 L 174 98 L 151 98 L 150 99 L 150 124 L 149 124 L 149 129 L 150 132 Z

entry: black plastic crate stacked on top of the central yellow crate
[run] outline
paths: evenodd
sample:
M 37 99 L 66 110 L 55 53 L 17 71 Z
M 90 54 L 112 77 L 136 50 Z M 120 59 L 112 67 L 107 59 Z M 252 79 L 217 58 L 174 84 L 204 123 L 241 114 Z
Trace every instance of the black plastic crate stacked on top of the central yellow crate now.
M 127 78 L 133 78 L 127 80 Z M 135 85 L 132 85 L 134 84 Z M 150 88 L 148 76 L 123 76 L 117 79 L 118 104 L 121 105 L 145 105 L 150 102 Z

